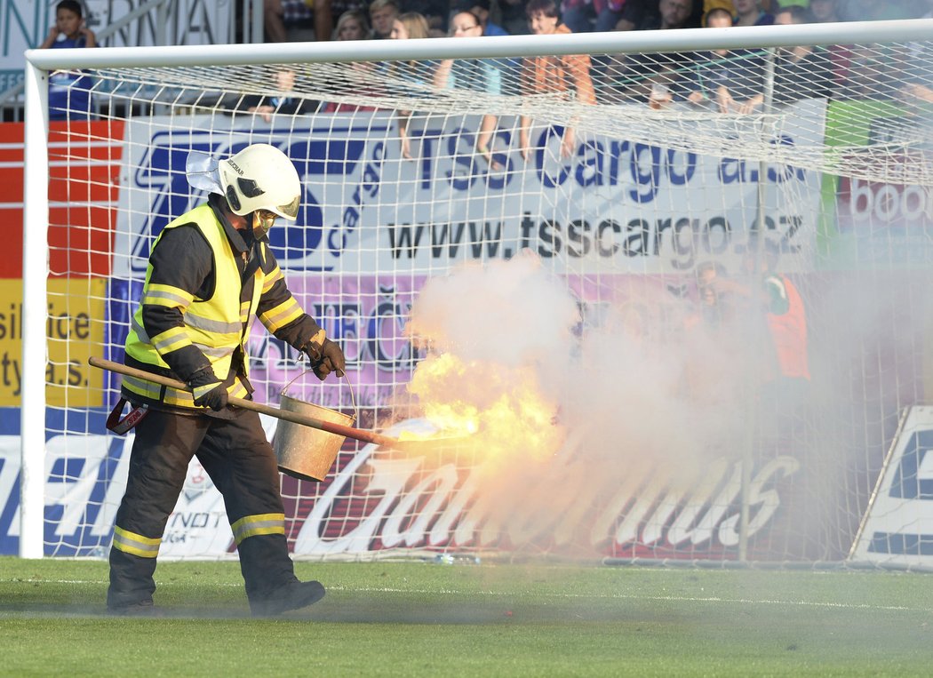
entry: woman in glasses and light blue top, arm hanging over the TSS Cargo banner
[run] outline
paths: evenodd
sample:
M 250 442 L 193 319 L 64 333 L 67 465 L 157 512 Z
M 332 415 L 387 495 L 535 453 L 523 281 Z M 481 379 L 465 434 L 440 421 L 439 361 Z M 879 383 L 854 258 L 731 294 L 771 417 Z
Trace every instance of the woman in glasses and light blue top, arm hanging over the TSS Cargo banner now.
M 482 24 L 473 12 L 457 12 L 451 20 L 453 37 L 480 37 Z M 502 68 L 494 59 L 445 59 L 434 72 L 434 84 L 439 88 L 483 91 L 486 94 L 502 93 Z M 491 169 L 499 170 L 502 166 L 493 159 L 490 142 L 493 139 L 498 121 L 493 115 L 486 114 L 480 122 L 480 131 L 476 139 L 476 151 L 489 164 Z

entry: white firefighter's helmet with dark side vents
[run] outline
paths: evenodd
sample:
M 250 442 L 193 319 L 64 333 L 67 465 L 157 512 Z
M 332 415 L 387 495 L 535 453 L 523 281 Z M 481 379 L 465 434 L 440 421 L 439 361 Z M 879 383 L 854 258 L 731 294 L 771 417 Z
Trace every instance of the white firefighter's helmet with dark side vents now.
M 278 148 L 253 144 L 221 160 L 220 186 L 233 214 L 268 210 L 295 220 L 301 200 L 301 181 L 292 161 Z

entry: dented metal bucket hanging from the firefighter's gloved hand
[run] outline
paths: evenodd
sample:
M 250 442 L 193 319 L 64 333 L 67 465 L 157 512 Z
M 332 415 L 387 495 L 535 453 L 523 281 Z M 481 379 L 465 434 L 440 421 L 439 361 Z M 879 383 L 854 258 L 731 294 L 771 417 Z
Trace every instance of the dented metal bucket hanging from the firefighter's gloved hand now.
M 289 382 L 288 386 L 292 382 Z M 347 383 L 349 384 L 349 381 Z M 306 403 L 286 394 L 288 386 L 285 386 L 280 394 L 280 408 L 289 412 L 299 412 L 299 414 L 324 422 L 340 423 L 344 426 L 354 425 L 355 414 L 343 414 L 336 409 Z M 353 391 L 351 390 L 350 393 L 352 397 Z M 337 459 L 337 454 L 341 451 L 345 439 L 344 436 L 283 420 L 276 426 L 272 447 L 282 473 L 300 480 L 323 480 L 327 477 L 327 471 L 334 465 L 334 460 Z

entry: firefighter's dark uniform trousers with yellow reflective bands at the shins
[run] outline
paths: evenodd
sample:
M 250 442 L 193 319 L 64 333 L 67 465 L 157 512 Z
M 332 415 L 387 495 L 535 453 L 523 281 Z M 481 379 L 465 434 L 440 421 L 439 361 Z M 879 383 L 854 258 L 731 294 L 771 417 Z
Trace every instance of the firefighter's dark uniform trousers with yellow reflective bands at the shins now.
M 225 414 L 232 417 L 153 409 L 136 426 L 115 546 L 110 549 L 108 607 L 151 602 L 162 533 L 195 454 L 224 497 L 250 601 L 297 581 L 285 541 L 272 446 L 256 412 L 228 408 Z

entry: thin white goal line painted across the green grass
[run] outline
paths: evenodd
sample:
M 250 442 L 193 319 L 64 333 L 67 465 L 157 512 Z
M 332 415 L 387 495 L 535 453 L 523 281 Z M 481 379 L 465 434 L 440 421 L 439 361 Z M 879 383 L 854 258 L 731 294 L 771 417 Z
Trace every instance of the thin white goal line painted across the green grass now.
M 29 583 L 29 584 L 82 584 L 103 586 L 105 581 L 93 581 L 89 579 L 33 579 L 33 578 L 15 578 L 0 579 L 3 583 Z M 181 582 L 160 582 L 160 588 L 171 586 L 182 586 Z M 216 586 L 227 588 L 240 588 L 242 584 L 218 584 Z M 926 612 L 926 608 L 907 607 L 904 605 L 871 605 L 867 602 L 814 602 L 814 601 L 774 601 L 770 599 L 754 600 L 751 598 L 720 598 L 718 596 L 633 596 L 622 593 L 541 593 L 539 591 L 461 591 L 454 588 L 388 588 L 388 587 L 363 587 L 347 588 L 341 586 L 327 587 L 331 591 L 347 591 L 350 593 L 418 593 L 429 595 L 431 593 L 442 593 L 452 596 L 476 596 L 484 595 L 490 597 L 503 596 L 531 596 L 538 598 L 564 598 L 567 600 L 620 600 L 620 601 L 658 601 L 658 602 L 726 602 L 741 605 L 790 605 L 799 607 L 826 607 L 842 610 L 887 610 L 893 612 Z

